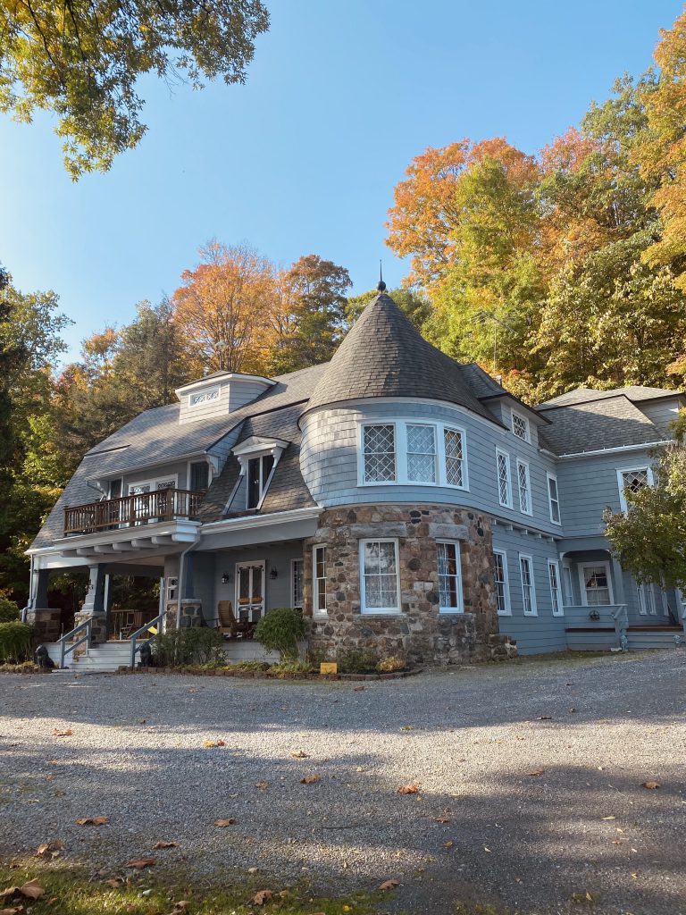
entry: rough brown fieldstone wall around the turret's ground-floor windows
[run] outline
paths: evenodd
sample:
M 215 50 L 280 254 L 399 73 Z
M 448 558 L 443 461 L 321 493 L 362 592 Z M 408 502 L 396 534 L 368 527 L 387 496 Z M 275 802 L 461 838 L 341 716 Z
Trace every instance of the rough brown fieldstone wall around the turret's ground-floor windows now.
M 359 541 L 398 540 L 401 612 L 360 613 Z M 464 613 L 439 613 L 436 540 L 460 544 Z M 356 505 L 325 511 L 305 541 L 304 607 L 312 617 L 312 547 L 327 547 L 327 617 L 312 618 L 310 646 L 335 657 L 349 648 L 400 654 L 412 664 L 505 660 L 517 654 L 498 632 L 487 515 L 440 505 Z

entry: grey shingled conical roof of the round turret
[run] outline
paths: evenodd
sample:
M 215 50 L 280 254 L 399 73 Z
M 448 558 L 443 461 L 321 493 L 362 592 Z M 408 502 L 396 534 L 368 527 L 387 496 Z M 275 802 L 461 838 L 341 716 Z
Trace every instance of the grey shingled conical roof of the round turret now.
M 459 362 L 423 339 L 391 296 L 364 309 L 317 383 L 305 413 L 368 397 L 425 397 L 459 404 L 493 421 Z

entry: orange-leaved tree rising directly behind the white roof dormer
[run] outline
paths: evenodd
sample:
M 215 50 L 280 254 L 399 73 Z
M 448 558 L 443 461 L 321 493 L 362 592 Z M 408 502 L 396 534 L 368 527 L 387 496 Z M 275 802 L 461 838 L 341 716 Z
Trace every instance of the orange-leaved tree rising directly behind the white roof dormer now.
M 276 296 L 273 264 L 249 245 L 208 242 L 172 296 L 175 322 L 202 371 L 263 373 Z

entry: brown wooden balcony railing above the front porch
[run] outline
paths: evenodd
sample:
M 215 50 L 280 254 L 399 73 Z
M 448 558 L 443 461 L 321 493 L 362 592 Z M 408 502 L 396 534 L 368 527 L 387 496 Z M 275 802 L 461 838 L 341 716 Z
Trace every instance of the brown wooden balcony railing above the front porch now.
M 97 533 L 155 522 L 195 518 L 203 490 L 154 490 L 121 499 L 72 505 L 64 510 L 64 533 Z

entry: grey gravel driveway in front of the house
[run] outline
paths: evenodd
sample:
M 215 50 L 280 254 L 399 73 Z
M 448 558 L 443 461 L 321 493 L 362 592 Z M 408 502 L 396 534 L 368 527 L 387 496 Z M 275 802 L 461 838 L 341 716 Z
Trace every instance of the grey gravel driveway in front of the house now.
M 5 674 L 0 855 L 59 838 L 65 861 L 114 870 L 153 855 L 332 893 L 396 878 L 396 911 L 684 915 L 685 673 L 670 651 L 364 688 Z M 152 852 L 160 840 L 178 845 Z

